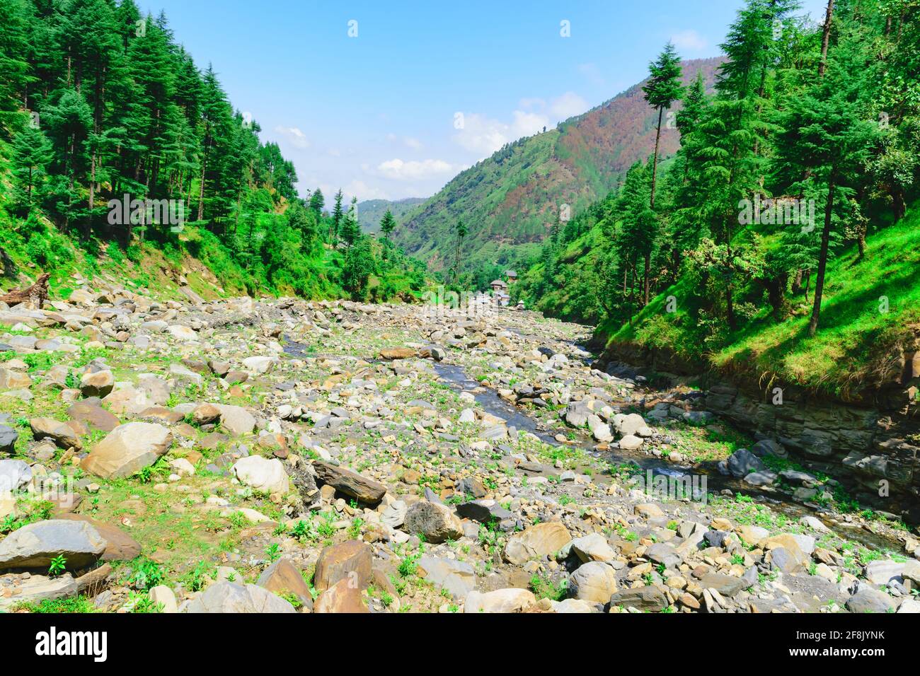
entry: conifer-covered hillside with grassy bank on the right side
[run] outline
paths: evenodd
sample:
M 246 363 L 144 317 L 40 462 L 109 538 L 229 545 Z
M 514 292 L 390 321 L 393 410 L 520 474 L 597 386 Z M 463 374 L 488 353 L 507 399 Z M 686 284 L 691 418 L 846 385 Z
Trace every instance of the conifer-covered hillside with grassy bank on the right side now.
M 810 25 L 749 0 L 722 49 L 715 95 L 678 93 L 673 160 L 655 181 L 653 157 L 631 166 L 517 292 L 600 323 L 614 356 L 837 394 L 900 382 L 920 320 L 920 5 L 838 0 Z

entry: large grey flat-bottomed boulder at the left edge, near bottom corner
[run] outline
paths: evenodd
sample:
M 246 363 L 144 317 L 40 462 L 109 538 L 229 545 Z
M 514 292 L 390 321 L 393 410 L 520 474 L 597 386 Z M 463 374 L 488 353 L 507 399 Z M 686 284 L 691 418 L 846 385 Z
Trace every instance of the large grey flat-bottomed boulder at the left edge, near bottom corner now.
M 0 542 L 0 569 L 47 569 L 52 558 L 63 555 L 66 567 L 75 570 L 96 563 L 105 550 L 105 539 L 86 521 L 38 521 Z

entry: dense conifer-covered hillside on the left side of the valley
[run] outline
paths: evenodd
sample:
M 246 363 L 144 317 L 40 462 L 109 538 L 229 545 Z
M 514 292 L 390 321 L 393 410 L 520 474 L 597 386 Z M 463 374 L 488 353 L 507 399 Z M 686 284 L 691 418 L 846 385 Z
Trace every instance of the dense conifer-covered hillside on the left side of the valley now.
M 409 298 L 424 266 L 362 235 L 352 201 L 301 199 L 213 67 L 133 0 L 0 0 L 7 281 L 194 258 L 227 291 Z M 161 202 L 163 201 L 163 202 Z

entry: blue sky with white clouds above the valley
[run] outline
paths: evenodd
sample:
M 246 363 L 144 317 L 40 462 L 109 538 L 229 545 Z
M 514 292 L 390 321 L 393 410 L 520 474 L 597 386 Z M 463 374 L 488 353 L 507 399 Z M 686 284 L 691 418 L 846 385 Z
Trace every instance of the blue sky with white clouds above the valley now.
M 803 0 L 822 16 L 826 0 Z M 138 0 L 166 11 L 301 193 L 427 197 L 497 150 L 614 97 L 667 40 L 719 54 L 741 0 Z M 568 37 L 563 37 L 563 21 Z M 350 23 L 356 22 L 356 23 Z M 350 36 L 356 32 L 355 37 Z M 457 113 L 462 113 L 461 120 Z

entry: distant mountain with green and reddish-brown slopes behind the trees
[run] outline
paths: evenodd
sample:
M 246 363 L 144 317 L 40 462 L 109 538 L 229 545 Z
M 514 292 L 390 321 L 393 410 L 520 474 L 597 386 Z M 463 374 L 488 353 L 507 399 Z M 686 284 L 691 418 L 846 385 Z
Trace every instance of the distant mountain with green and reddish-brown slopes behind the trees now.
M 723 58 L 686 61 L 684 84 L 702 72 L 712 86 Z M 574 213 L 603 198 L 626 170 L 654 150 L 655 111 L 642 84 L 554 130 L 509 143 L 458 174 L 406 216 L 394 234 L 408 253 L 432 269 L 449 267 L 454 225 L 463 219 L 467 269 L 514 264 L 534 254 L 563 205 Z M 661 130 L 661 154 L 679 146 L 676 129 Z

